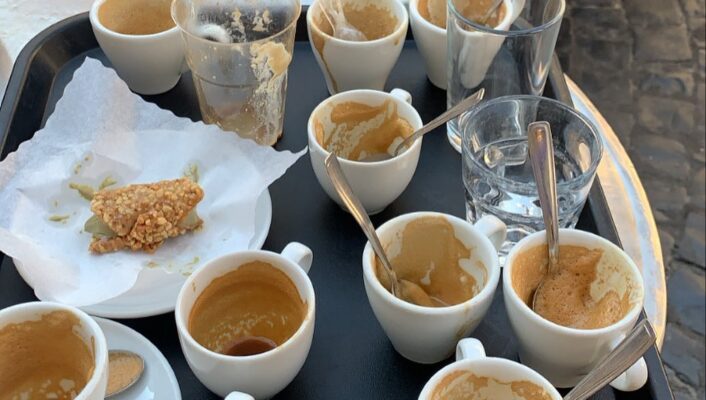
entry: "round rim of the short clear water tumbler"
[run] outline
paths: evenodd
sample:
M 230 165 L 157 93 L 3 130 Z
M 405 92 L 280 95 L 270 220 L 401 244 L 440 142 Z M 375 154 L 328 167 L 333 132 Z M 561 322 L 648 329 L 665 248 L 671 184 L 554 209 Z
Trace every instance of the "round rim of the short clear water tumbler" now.
M 480 104 L 476 105 L 473 107 L 467 114 L 467 116 L 463 118 L 467 118 L 468 120 L 474 119 L 478 114 L 480 114 L 482 111 L 484 111 L 486 108 L 495 106 L 500 103 L 506 103 L 509 101 L 538 101 L 538 102 L 547 102 L 550 104 L 553 104 L 560 108 L 562 111 L 566 111 L 569 114 L 573 115 L 574 117 L 578 118 L 581 122 L 583 122 L 586 126 L 588 126 L 589 131 L 591 132 L 591 136 L 594 139 L 595 146 L 597 147 L 596 149 L 596 156 L 592 157 L 591 163 L 589 164 L 588 168 L 586 171 L 581 172 L 581 174 L 576 175 L 575 177 L 565 180 L 562 182 L 557 182 L 557 187 L 558 188 L 565 188 L 574 185 L 576 182 L 580 182 L 582 180 L 585 180 L 587 178 L 590 178 L 591 176 L 595 176 L 596 171 L 598 170 L 598 165 L 601 163 L 601 159 L 603 158 L 603 152 L 604 152 L 604 146 L 603 146 L 603 139 L 601 136 L 598 134 L 598 129 L 596 128 L 595 124 L 591 122 L 587 116 L 585 116 L 583 113 L 578 112 L 576 109 L 569 107 L 568 105 L 554 99 L 550 99 L 547 97 L 543 96 L 534 96 L 534 95 L 509 95 L 509 96 L 502 96 L 502 97 L 496 97 L 494 99 L 481 102 Z M 465 141 L 462 144 L 462 148 L 466 149 Z M 463 150 L 464 152 L 468 153 L 468 149 Z M 471 162 L 473 163 L 474 166 L 480 168 L 484 172 L 487 173 L 492 173 L 488 169 L 486 165 L 483 163 L 478 162 L 478 160 L 475 157 L 470 157 Z M 465 162 L 465 159 L 464 159 Z M 517 184 L 516 181 L 513 181 L 512 179 L 508 179 L 504 176 L 499 176 L 495 175 L 494 179 L 497 179 L 501 182 L 508 183 L 508 184 Z M 534 183 L 528 183 L 529 185 L 533 185 Z

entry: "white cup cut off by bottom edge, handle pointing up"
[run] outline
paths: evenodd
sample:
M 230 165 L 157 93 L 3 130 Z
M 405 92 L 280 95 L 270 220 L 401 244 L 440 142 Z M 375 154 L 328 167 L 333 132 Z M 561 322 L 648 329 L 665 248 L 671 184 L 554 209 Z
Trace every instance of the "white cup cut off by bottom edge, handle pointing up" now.
M 419 400 L 561 400 L 557 390 L 530 368 L 504 358 L 487 357 L 472 338 L 456 346 L 456 362 L 424 385 Z

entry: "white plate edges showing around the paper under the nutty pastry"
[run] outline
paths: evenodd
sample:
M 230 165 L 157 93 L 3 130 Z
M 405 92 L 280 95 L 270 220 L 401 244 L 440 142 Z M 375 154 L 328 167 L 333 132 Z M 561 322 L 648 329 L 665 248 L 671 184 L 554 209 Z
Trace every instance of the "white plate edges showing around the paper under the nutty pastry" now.
M 272 199 L 265 190 L 258 198 L 255 209 L 255 233 L 249 249 L 260 249 L 267 239 L 272 222 Z M 17 272 L 29 286 L 33 286 L 23 273 L 23 268 L 13 260 Z M 145 268 L 137 277 L 137 282 L 127 292 L 118 297 L 91 306 L 79 307 L 90 315 L 105 318 L 143 318 L 174 311 L 179 290 L 186 277 L 177 273 L 167 273 L 159 268 Z

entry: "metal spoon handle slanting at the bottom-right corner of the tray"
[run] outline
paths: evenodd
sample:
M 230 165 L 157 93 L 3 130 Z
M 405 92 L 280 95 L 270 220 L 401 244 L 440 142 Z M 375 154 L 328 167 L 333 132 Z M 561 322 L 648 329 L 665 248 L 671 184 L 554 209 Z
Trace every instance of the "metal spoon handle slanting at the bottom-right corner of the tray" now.
M 646 319 L 640 321 L 618 347 L 599 362 L 564 400 L 588 399 L 637 362 L 656 340 L 652 325 Z

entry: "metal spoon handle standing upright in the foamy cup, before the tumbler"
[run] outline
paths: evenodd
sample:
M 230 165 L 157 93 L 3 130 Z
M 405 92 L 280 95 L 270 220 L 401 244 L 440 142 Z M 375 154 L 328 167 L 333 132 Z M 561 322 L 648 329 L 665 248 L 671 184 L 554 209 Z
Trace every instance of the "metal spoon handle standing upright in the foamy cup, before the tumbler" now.
M 537 182 L 539 204 L 542 206 L 544 226 L 549 246 L 549 273 L 559 264 L 559 205 L 557 204 L 554 141 L 549 123 L 537 121 L 527 128 L 532 172 Z

